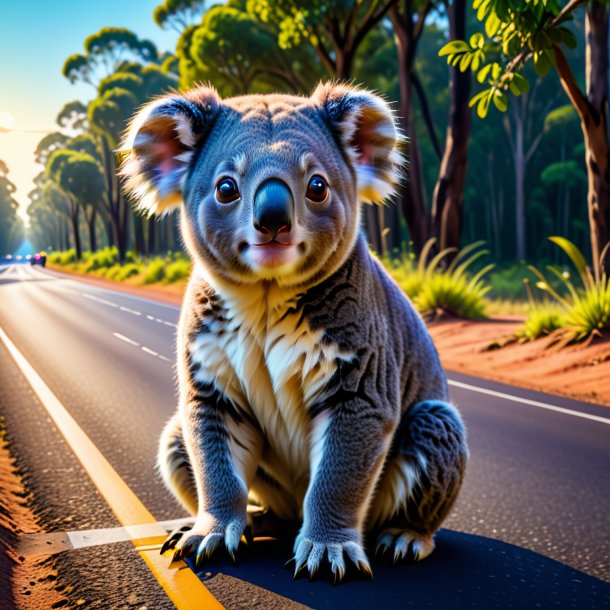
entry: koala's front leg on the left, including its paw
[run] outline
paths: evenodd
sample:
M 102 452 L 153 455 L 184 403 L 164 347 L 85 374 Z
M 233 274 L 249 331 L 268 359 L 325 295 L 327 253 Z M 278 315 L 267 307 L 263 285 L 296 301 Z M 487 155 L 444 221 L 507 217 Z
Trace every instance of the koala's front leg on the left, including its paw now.
M 197 321 L 190 325 L 197 326 Z M 202 335 L 210 331 L 207 324 L 198 325 L 203 329 L 199 335 L 179 333 L 190 336 L 179 345 L 179 411 L 198 511 L 193 528 L 182 533 L 175 545 L 182 557 L 196 554 L 197 560 L 211 555 L 223 542 L 229 553 L 236 551 L 246 526 L 248 487 L 263 446 L 260 429 L 249 413 L 211 381 Z M 193 345 L 203 351 L 198 357 Z

